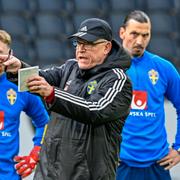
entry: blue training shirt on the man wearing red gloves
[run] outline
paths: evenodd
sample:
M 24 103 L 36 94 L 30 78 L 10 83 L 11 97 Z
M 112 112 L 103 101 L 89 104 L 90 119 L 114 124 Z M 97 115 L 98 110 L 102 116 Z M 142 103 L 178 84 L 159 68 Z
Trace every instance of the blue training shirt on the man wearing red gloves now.
M 49 119 L 41 99 L 28 92 L 18 92 L 17 86 L 7 80 L 5 73 L 2 74 L 0 76 L 0 180 L 21 179 L 14 169 L 13 158 L 19 152 L 19 123 L 22 111 L 31 117 L 35 127 L 34 145 L 40 145 L 44 125 Z

